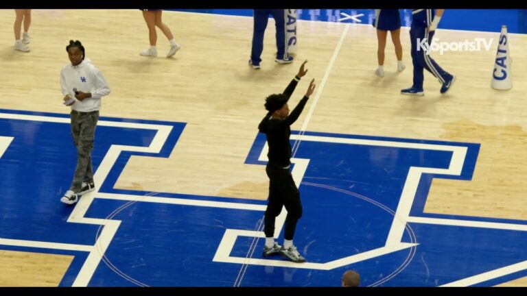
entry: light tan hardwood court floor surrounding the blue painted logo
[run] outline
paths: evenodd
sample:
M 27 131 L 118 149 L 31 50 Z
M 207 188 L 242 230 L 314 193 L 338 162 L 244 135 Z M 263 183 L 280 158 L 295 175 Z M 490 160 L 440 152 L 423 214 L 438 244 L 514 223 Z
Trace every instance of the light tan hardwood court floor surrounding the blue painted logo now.
M 157 58 L 139 10 L 34 10 L 30 53 L 14 51 L 13 10 L 0 10 L 0 106 L 66 114 L 60 69 L 65 47 L 81 40 L 86 58 L 101 69 L 112 93 L 101 116 L 180 121 L 185 131 L 169 158 L 132 156 L 117 188 L 266 199 L 268 180 L 259 166 L 244 164 L 264 98 L 279 93 L 309 60 L 296 89 L 296 104 L 309 79 L 315 95 L 295 130 L 480 143 L 473 180 L 434 180 L 425 211 L 472 217 L 527 219 L 527 37 L 509 34 L 514 86 L 490 87 L 498 33 L 438 29 L 434 38 L 463 41 L 493 38 L 490 51 L 447 52 L 432 57 L 457 81 L 448 95 L 425 73 L 425 96 L 406 97 L 412 84 L 408 28 L 401 29 L 407 69 L 397 73 L 393 45 L 386 48 L 385 77 L 374 75 L 377 40 L 371 25 L 298 21 L 296 62 L 274 62 L 270 20 L 261 69 L 248 65 L 253 19 L 240 16 L 163 12 L 182 49 L 165 58 L 169 43 L 158 30 Z M 1 249 L 1 246 L 0 246 Z M 0 251 L 1 286 L 56 286 L 71 258 L 53 258 L 56 273 L 44 276 L 39 254 Z M 66 263 L 65 263 L 66 262 Z M 55 270 L 55 269 L 54 269 Z M 23 280 L 17 273 L 25 274 Z M 504 284 L 526 286 L 526 278 Z

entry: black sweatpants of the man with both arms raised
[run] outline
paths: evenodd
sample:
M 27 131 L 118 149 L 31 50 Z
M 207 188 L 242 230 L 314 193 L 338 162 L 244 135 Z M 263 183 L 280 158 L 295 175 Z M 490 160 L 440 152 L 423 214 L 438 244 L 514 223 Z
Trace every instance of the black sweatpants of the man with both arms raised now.
M 285 217 L 286 240 L 292 240 L 296 221 L 302 217 L 302 204 L 300 192 L 294 184 L 293 176 L 289 169 L 280 169 L 268 164 L 266 173 L 269 177 L 269 197 L 265 216 L 266 237 L 274 236 L 274 221 L 282 211 L 282 206 L 288 211 Z

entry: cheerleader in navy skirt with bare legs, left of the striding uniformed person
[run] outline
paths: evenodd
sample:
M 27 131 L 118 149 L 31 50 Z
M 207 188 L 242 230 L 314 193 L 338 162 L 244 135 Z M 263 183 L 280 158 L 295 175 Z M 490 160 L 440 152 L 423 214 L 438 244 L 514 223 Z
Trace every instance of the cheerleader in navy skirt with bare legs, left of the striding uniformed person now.
M 375 75 L 384 77 L 384 49 L 386 48 L 386 37 L 388 31 L 392 36 L 395 56 L 397 57 L 397 71 L 403 71 L 406 66 L 403 64 L 403 46 L 401 45 L 401 14 L 398 9 L 375 10 L 375 21 L 373 27 L 377 28 L 377 61 L 379 67 L 375 70 Z

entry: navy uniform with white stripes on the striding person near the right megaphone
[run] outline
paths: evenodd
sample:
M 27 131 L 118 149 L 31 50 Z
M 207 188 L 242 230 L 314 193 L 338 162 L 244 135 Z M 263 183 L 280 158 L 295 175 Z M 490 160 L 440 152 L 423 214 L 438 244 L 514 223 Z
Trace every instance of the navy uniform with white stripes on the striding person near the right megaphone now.
M 432 59 L 426 51 L 421 48 L 420 43 L 424 38 L 428 45 L 431 44 L 435 31 L 429 32 L 428 26 L 432 23 L 435 16 L 433 9 L 414 9 L 412 11 L 412 25 L 410 27 L 410 42 L 412 42 L 412 64 L 414 65 L 414 84 L 413 87 L 423 89 L 423 69 L 432 73 L 441 84 L 445 84 L 452 79 L 452 75 Z M 419 48 L 419 51 L 417 50 Z

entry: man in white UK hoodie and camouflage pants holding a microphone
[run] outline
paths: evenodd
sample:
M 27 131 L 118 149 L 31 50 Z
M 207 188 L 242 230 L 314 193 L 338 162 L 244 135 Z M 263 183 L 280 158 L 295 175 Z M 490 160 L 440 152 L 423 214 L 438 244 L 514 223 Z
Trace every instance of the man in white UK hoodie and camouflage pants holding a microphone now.
M 71 107 L 71 136 L 77 148 L 77 167 L 73 182 L 60 201 L 75 204 L 81 195 L 95 189 L 91 151 L 101 98 L 110 94 L 110 87 L 101 71 L 90 60 L 84 60 L 86 51 L 79 40 L 69 40 L 66 51 L 71 63 L 60 71 L 60 86 L 64 104 Z

